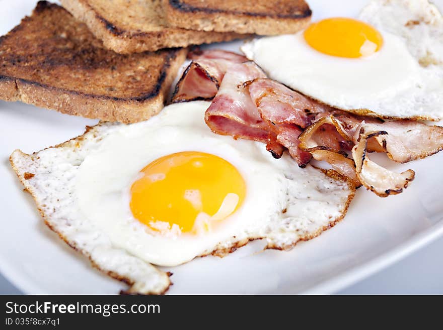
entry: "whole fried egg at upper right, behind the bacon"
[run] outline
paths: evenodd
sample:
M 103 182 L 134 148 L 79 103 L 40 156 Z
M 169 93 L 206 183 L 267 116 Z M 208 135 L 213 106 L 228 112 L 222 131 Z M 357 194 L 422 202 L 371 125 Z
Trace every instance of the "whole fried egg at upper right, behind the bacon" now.
M 443 118 L 443 17 L 427 0 L 373 0 L 242 47 L 272 79 L 326 104 L 381 118 Z

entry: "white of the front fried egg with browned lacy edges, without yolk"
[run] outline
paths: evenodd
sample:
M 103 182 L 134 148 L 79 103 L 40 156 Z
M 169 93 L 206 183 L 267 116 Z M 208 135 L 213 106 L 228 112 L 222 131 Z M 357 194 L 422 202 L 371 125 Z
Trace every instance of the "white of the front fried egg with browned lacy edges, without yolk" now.
M 164 293 L 171 284 L 152 263 L 175 265 L 251 239 L 287 249 L 330 228 L 345 214 L 355 189 L 262 144 L 213 134 L 204 124 L 208 102 L 167 106 L 149 121 L 101 123 L 75 139 L 11 164 L 45 223 L 94 267 L 130 285 L 128 293 Z M 199 150 L 231 162 L 245 178 L 244 204 L 208 235 L 155 237 L 130 213 L 129 187 L 138 172 L 165 154 Z M 173 187 L 171 187 L 173 188 Z M 235 250 L 235 249 L 234 249 Z

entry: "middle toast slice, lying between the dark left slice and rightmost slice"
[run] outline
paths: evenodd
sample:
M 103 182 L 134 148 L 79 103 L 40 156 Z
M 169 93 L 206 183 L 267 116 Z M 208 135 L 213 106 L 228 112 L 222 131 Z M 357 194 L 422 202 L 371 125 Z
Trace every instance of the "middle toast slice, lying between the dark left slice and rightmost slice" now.
M 61 0 L 105 47 L 128 54 L 244 38 L 237 33 L 191 31 L 168 26 L 161 0 Z

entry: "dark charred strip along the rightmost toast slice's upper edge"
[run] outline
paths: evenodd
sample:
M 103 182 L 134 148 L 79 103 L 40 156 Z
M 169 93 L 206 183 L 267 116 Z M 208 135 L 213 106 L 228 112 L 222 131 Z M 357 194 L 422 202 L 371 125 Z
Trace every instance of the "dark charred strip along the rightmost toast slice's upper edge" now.
M 169 5 L 183 13 L 198 13 L 203 12 L 207 14 L 232 14 L 232 15 L 245 15 L 250 17 L 272 17 L 279 19 L 302 19 L 311 17 L 312 11 L 309 6 L 306 8 L 301 8 L 300 11 L 291 14 L 270 14 L 270 13 L 252 13 L 236 10 L 225 10 L 219 8 L 207 8 L 207 7 L 197 7 L 190 4 L 186 4 L 182 0 L 169 0 Z

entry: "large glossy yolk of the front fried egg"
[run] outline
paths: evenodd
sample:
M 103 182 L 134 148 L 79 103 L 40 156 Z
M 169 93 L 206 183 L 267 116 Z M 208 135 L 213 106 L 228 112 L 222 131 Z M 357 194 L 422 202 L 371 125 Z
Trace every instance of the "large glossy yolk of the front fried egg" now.
M 164 156 L 141 170 L 130 189 L 133 216 L 152 230 L 209 230 L 235 212 L 246 194 L 238 170 L 215 155 L 185 151 Z

